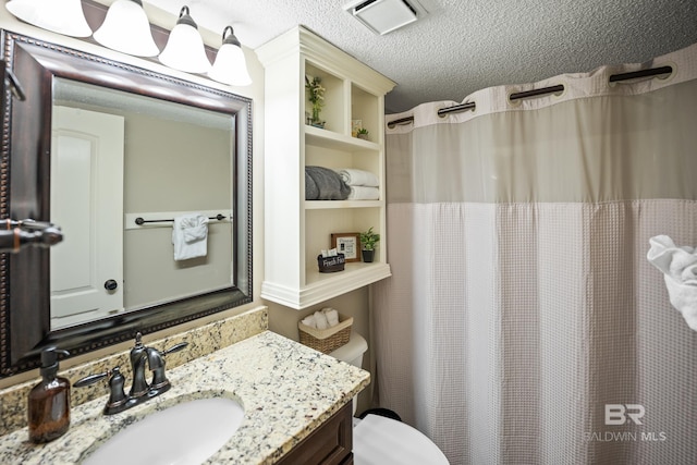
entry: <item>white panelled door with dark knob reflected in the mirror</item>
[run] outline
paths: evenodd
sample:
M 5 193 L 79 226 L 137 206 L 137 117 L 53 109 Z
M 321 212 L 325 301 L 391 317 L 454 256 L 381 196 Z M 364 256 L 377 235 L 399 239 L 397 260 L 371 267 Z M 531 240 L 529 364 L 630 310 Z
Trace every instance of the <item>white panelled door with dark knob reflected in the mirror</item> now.
M 51 249 L 52 330 L 123 310 L 123 117 L 53 107 L 51 221 L 65 241 Z

